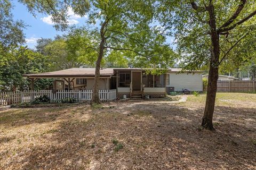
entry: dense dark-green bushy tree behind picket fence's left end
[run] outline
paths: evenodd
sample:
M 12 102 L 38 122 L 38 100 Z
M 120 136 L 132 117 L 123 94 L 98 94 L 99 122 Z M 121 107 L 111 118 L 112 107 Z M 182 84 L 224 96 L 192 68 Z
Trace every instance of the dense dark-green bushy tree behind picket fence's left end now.
M 46 56 L 34 52 L 27 47 L 19 47 L 0 54 L 0 90 L 15 91 L 27 89 L 28 80 L 22 77 L 27 73 L 46 71 L 49 62 Z M 37 83 L 43 86 L 42 83 Z

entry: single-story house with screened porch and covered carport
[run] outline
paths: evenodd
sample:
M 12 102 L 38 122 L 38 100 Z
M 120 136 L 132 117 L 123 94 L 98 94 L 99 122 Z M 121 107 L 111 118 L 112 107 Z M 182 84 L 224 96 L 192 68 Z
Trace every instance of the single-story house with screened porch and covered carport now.
M 167 69 L 164 74 L 152 75 L 147 70 L 140 68 L 106 68 L 100 70 L 99 89 L 116 89 L 117 97 L 127 98 L 164 97 L 166 90 L 203 91 L 202 71 L 186 71 L 181 69 Z M 31 79 L 31 89 L 37 79 L 53 78 L 54 90 L 67 89 L 92 89 L 94 83 L 95 68 L 73 68 L 67 70 L 26 74 Z

